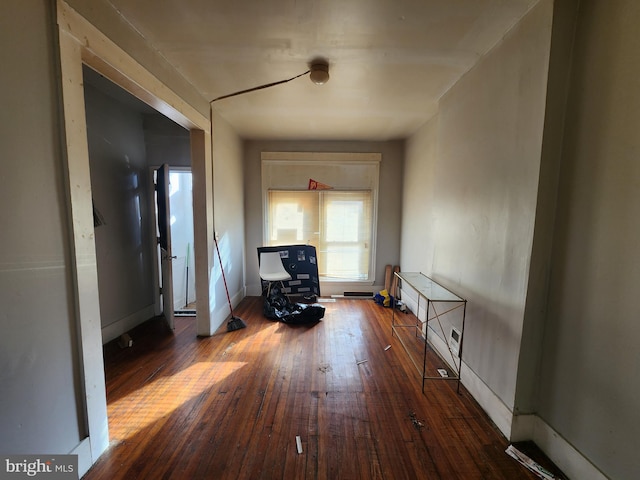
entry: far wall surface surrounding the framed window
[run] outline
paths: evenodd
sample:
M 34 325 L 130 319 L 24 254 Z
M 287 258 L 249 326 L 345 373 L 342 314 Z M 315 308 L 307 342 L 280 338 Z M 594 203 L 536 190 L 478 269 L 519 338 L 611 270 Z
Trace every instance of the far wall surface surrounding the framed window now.
M 246 225 L 246 282 L 250 295 L 260 295 L 257 248 L 263 245 L 262 236 L 262 182 L 261 152 L 368 152 L 381 153 L 378 190 L 378 231 L 376 240 L 375 285 L 367 290 L 380 289 L 384 285 L 385 265 L 399 265 L 400 211 L 402 197 L 402 171 L 404 142 L 281 142 L 246 141 L 244 143 L 244 187 Z M 344 290 L 357 290 L 343 288 Z M 321 284 L 320 293 L 328 288 Z

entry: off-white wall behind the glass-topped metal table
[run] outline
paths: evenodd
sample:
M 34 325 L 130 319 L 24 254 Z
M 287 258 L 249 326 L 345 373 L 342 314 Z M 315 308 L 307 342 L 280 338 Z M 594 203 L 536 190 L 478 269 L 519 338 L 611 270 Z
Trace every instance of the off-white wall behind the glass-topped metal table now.
M 404 271 L 468 299 L 464 360 L 513 411 L 540 168 L 551 2 L 441 99 L 408 142 Z

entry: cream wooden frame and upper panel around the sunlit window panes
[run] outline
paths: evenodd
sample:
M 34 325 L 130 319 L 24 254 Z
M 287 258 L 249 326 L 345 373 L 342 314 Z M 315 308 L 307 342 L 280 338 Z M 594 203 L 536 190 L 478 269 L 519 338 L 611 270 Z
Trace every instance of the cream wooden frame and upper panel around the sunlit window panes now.
M 262 241 L 268 245 L 269 190 L 307 190 L 309 180 L 338 191 L 371 191 L 371 248 L 366 280 L 323 277 L 321 282 L 373 285 L 376 272 L 380 153 L 262 152 Z

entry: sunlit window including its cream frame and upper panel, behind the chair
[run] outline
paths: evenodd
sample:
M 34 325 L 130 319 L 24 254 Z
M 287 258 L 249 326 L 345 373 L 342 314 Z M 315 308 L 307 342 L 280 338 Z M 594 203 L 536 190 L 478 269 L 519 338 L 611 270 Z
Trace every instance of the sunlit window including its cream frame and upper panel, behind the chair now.
M 262 152 L 264 245 L 316 247 L 321 281 L 373 282 L 379 153 Z M 310 180 L 330 186 L 308 190 Z

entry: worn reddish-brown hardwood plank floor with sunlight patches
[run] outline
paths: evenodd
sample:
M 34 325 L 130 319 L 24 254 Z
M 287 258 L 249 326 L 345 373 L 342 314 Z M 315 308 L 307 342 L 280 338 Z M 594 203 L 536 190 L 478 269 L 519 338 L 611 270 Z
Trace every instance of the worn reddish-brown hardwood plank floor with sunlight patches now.
M 107 344 L 111 445 L 84 478 L 537 478 L 463 387 L 422 393 L 389 309 L 323 305 L 320 323 L 290 326 L 249 297 L 241 330 L 198 338 L 194 318 L 173 334 L 152 320 L 133 347 Z

